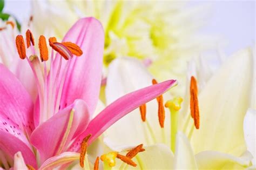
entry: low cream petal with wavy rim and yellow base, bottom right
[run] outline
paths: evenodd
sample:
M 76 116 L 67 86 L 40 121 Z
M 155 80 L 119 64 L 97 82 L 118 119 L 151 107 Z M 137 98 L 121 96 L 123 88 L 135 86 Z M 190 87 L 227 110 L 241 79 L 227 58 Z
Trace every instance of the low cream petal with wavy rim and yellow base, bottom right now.
M 245 169 L 251 165 L 251 159 L 250 152 L 244 153 L 242 157 L 216 151 L 204 151 L 196 154 L 199 169 Z

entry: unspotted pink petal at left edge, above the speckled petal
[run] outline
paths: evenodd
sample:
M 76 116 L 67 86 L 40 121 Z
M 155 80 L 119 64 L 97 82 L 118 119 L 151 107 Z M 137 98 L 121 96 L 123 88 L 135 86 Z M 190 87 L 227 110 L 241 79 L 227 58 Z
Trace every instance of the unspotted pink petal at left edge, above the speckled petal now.
M 33 103 L 21 82 L 0 64 L 0 112 L 17 123 L 28 134 L 33 125 Z

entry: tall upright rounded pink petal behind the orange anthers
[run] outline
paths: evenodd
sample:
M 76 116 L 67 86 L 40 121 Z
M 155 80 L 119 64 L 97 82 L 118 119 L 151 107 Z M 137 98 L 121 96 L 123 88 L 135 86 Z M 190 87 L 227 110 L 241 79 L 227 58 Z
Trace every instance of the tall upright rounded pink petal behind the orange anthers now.
M 60 108 L 72 104 L 75 99 L 83 99 L 92 114 L 96 108 L 102 76 L 104 49 L 102 25 L 95 18 L 79 19 L 68 31 L 63 42 L 76 43 L 82 49 L 83 55 L 73 57 L 69 61 L 71 63 L 63 87 Z M 55 62 L 57 61 L 58 59 Z M 66 61 L 62 62 L 63 65 L 66 64 Z M 62 73 L 63 68 L 64 66 Z

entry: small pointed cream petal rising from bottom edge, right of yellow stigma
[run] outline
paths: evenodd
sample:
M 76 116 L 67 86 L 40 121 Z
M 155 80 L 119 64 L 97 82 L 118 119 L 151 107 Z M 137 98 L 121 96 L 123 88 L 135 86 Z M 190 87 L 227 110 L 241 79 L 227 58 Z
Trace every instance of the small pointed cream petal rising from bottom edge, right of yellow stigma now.
M 181 132 L 177 133 L 175 150 L 174 169 L 197 169 L 190 141 Z

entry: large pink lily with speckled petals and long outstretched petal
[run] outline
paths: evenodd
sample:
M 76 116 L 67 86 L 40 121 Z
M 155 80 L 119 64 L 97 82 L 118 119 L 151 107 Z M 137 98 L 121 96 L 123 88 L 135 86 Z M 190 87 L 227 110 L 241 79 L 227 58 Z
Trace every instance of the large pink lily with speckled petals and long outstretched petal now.
M 94 18 L 80 19 L 63 42 L 77 44 L 83 55 L 72 58 L 71 50 L 64 43 L 53 42 L 68 60 L 63 60 L 59 53 L 53 59 L 52 50 L 50 66 L 43 58 L 43 71 L 30 42 L 27 52 L 30 51 L 31 56 L 25 59 L 36 79 L 35 104 L 16 76 L 0 64 L 0 160 L 8 162 L 5 168 L 13 164 L 17 152 L 22 153 L 25 164 L 34 168 L 49 167 L 52 162 L 68 157 L 70 151 L 78 152 L 86 135 L 92 134 L 90 145 L 117 120 L 176 83 L 168 80 L 126 94 L 91 119 L 102 76 L 102 25 Z

